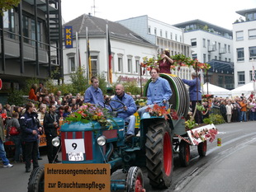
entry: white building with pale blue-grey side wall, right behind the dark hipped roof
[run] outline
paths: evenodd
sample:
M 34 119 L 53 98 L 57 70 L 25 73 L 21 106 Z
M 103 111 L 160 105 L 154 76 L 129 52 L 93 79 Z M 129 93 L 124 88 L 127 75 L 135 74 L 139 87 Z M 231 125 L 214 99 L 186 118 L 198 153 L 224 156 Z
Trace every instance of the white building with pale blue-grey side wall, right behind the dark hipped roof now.
M 170 55 L 184 54 L 191 57 L 191 46 L 183 41 L 183 30 L 168 23 L 155 20 L 147 15 L 116 21 L 159 47 L 158 53 L 170 50 Z M 191 78 L 189 68 L 172 71 L 182 78 Z

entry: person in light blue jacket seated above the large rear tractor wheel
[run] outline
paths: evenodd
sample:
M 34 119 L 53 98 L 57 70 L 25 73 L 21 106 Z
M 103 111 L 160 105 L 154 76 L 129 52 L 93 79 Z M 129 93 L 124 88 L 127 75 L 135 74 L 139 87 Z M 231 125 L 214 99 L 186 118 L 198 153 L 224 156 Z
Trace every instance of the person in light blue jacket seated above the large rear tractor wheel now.
M 159 77 L 159 72 L 159 68 L 151 68 L 150 70 L 152 81 L 149 82 L 147 91 L 147 105 L 138 110 L 140 117 L 145 113 L 145 110 L 148 107 L 152 108 L 154 104 L 165 106 L 166 110 L 168 108 L 168 100 L 173 95 L 173 92 L 168 81 L 162 77 Z

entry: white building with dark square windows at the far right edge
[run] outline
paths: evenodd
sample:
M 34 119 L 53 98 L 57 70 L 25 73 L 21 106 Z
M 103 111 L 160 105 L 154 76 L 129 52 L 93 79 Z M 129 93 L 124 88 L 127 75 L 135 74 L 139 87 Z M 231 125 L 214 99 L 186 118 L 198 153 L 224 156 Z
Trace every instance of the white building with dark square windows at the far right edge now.
M 244 16 L 233 24 L 235 87 L 253 80 L 253 66 L 256 68 L 256 8 L 237 12 Z

